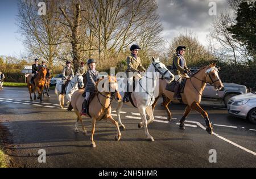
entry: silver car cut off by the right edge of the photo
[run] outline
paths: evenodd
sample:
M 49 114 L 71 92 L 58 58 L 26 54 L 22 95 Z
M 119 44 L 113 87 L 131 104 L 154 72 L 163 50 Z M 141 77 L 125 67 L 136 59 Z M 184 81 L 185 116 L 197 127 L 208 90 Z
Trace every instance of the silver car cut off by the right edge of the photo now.
M 256 124 L 256 94 L 246 93 L 232 97 L 228 102 L 228 112 L 232 116 L 248 118 Z

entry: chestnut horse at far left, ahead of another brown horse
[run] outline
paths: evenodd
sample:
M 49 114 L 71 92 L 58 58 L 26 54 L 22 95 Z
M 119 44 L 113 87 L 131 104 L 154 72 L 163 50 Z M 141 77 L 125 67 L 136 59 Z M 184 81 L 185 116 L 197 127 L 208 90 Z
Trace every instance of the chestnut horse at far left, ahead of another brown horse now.
M 47 70 L 42 67 L 40 69 L 39 73 L 35 76 L 34 83 L 30 84 L 31 82 L 31 74 L 28 75 L 27 77 L 27 87 L 28 91 L 30 92 L 30 100 L 32 100 L 31 93 L 34 92 L 34 100 L 36 100 L 36 92 L 38 92 L 38 99 L 42 101 L 42 94 L 43 94 L 43 89 L 44 89 L 44 84 L 46 84 L 46 74 Z

